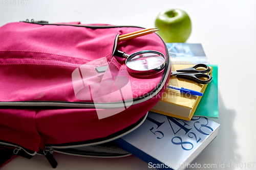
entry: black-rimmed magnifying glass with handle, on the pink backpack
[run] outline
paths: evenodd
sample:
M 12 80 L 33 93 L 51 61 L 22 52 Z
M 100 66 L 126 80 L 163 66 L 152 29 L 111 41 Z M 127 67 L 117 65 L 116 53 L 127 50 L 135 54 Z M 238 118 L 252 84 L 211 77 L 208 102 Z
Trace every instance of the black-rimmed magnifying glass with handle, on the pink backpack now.
M 154 75 L 163 70 L 165 65 L 165 56 L 153 50 L 139 51 L 131 55 L 116 50 L 114 55 L 125 58 L 127 71 L 135 76 Z

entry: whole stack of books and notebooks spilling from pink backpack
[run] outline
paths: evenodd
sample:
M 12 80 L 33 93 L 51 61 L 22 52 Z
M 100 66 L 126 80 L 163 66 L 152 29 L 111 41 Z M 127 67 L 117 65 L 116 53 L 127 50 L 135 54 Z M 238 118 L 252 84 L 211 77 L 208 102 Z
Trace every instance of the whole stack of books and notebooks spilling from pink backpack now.
M 218 66 L 209 65 L 201 44 L 167 43 L 172 71 L 198 63 L 211 67 L 212 81 L 203 85 L 170 77 L 168 84 L 203 92 L 185 95 L 166 89 L 161 100 L 148 112 L 145 122 L 118 138 L 122 149 L 158 169 L 185 169 L 218 134 Z M 193 65 L 190 65 L 193 64 Z

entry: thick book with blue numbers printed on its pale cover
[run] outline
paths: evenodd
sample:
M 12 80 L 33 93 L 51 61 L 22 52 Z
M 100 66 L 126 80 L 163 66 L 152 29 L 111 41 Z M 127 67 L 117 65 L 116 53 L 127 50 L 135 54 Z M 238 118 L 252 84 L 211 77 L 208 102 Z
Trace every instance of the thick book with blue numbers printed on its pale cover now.
M 193 116 L 188 122 L 150 111 L 138 129 L 115 143 L 150 168 L 180 170 L 189 167 L 215 139 L 219 126 L 206 117 Z

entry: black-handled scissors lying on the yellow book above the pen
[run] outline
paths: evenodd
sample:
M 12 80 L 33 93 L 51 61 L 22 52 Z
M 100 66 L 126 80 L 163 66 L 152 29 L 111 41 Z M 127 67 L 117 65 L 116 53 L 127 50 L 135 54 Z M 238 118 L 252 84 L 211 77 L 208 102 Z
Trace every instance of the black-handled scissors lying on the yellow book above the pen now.
M 205 70 L 199 70 L 197 69 L 198 67 L 204 67 Z M 204 74 L 206 72 L 210 72 L 210 67 L 208 65 L 197 64 L 193 67 L 172 71 L 170 76 L 177 76 L 177 78 L 193 80 L 200 84 L 208 84 L 211 82 L 212 77 L 210 75 Z M 201 80 L 200 78 L 207 78 L 207 80 Z

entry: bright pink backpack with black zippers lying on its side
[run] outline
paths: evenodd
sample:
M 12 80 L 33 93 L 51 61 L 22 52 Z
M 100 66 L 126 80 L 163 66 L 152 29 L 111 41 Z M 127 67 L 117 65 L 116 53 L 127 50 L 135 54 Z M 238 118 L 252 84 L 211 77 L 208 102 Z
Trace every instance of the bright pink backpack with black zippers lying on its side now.
M 53 152 L 130 155 L 90 148 L 109 147 L 140 126 L 164 92 L 171 66 L 163 40 L 153 33 L 117 42 L 118 35 L 141 29 L 28 20 L 2 26 L 0 166 L 16 155 L 45 155 L 53 167 Z M 164 69 L 133 76 L 116 50 L 160 52 Z

